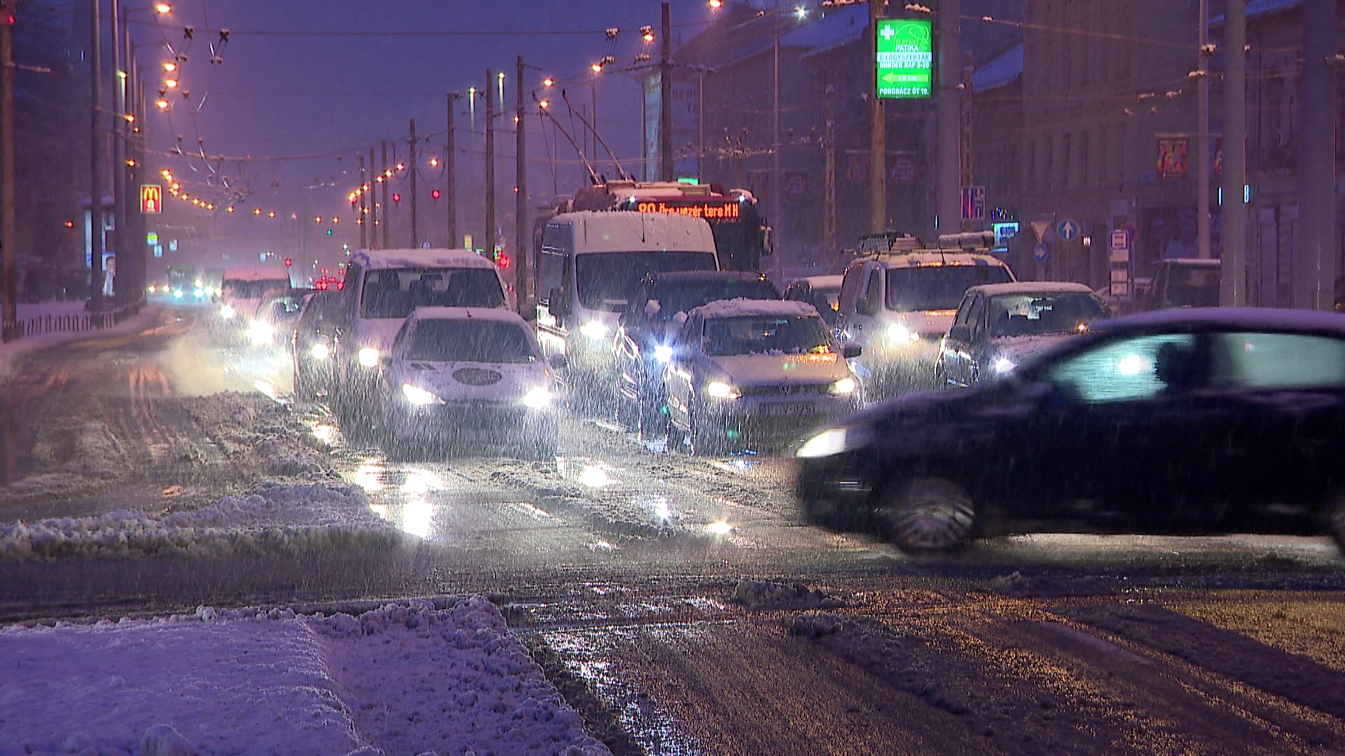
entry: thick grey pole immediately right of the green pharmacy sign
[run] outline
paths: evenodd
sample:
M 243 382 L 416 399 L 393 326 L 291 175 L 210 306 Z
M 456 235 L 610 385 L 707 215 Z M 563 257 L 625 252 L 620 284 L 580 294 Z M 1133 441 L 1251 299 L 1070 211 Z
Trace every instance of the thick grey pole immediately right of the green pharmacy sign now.
M 962 0 L 939 3 L 939 101 L 935 104 L 935 222 L 940 234 L 962 230 L 962 130 L 958 69 L 962 61 Z

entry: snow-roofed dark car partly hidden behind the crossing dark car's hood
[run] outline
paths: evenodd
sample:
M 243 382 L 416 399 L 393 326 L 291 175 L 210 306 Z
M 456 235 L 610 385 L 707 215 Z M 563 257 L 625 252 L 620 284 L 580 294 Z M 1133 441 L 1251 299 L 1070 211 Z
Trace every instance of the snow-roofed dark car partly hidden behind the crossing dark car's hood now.
M 939 387 L 972 386 L 1011 373 L 1034 354 L 1111 316 L 1083 284 L 1022 281 L 971 287 L 933 363 Z

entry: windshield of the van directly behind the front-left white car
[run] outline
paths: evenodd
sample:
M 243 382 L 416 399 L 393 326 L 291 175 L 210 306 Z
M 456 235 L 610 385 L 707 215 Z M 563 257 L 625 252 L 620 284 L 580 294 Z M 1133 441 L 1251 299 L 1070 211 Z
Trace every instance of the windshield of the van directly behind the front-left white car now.
M 503 307 L 504 292 L 491 268 L 397 268 L 370 270 L 360 317 L 406 317 L 417 307 Z

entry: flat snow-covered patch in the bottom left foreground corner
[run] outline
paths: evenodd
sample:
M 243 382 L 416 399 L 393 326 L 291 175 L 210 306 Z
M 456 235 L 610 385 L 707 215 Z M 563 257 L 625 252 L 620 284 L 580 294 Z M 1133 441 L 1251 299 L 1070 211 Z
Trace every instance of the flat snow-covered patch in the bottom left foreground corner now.
M 482 597 L 8 627 L 0 658 L 4 755 L 611 755 Z

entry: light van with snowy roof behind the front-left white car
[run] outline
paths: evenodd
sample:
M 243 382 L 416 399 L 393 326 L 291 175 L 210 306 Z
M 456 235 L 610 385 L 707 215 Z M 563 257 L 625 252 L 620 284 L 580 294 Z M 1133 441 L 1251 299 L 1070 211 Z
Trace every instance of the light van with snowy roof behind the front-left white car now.
M 346 264 L 336 308 L 336 393 L 351 409 L 373 397 L 381 358 L 420 307 L 508 307 L 499 268 L 469 249 L 360 250 Z

